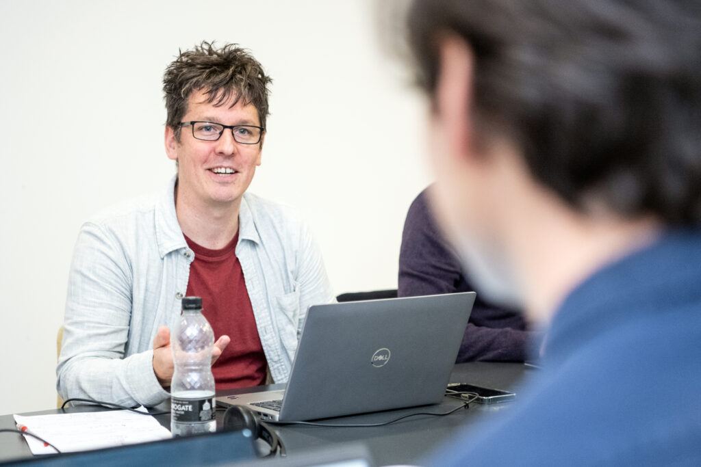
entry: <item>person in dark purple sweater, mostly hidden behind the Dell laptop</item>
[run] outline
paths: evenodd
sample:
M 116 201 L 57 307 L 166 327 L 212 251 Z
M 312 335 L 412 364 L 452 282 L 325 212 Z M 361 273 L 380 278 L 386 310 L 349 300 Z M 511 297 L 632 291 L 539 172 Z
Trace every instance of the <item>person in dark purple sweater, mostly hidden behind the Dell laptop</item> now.
M 423 190 L 411 203 L 404 221 L 397 295 L 475 291 L 435 223 L 428 206 L 429 190 L 430 187 Z M 535 333 L 526 330 L 521 312 L 487 302 L 477 290 L 456 361 L 524 361 L 534 340 Z

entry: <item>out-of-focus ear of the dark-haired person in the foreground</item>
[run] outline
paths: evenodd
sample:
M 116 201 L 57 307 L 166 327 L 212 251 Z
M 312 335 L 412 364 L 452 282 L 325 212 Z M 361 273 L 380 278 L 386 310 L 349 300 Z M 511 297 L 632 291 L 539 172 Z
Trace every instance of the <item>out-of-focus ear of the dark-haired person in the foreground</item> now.
M 435 90 L 435 117 L 444 128 L 451 153 L 469 157 L 472 122 L 472 50 L 463 39 L 445 35 L 439 41 L 440 69 Z

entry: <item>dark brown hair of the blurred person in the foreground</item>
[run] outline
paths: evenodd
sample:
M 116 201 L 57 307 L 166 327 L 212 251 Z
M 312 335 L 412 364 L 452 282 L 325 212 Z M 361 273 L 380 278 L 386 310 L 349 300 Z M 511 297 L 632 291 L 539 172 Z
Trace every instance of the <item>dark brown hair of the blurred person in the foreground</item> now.
M 477 136 L 573 207 L 701 224 L 699 1 L 417 0 L 408 27 L 431 96 L 441 34 L 468 43 Z

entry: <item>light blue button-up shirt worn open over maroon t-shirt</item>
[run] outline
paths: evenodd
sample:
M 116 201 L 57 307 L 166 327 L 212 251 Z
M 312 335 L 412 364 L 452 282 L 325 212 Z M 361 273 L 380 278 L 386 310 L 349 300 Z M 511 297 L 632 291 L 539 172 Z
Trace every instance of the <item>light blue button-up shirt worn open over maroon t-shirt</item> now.
M 175 326 L 195 258 L 175 214 L 176 180 L 83 224 L 56 369 L 62 398 L 151 406 L 170 396 L 154 374 L 153 340 Z M 271 376 L 287 382 L 307 308 L 334 300 L 321 253 L 299 211 L 245 193 L 236 256 Z

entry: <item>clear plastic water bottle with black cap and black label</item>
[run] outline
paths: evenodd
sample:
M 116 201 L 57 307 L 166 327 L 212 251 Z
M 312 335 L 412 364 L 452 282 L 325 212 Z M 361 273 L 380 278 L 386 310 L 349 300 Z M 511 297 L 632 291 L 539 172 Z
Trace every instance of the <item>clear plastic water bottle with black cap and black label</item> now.
M 170 337 L 175 364 L 170 382 L 170 432 L 174 437 L 217 430 L 214 345 L 215 333 L 202 314 L 202 299 L 183 298 L 182 315 Z

